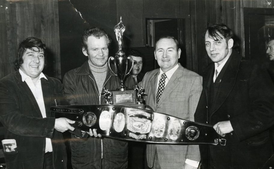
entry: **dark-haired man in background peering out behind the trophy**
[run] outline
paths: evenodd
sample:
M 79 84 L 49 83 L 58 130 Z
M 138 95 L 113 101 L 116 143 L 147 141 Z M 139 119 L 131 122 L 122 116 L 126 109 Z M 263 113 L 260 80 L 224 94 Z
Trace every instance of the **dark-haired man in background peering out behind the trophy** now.
M 137 85 L 144 78 L 144 74 L 141 73 L 143 67 L 143 55 L 139 51 L 134 49 L 129 49 L 126 55 L 131 56 L 134 61 L 133 68 L 130 74 L 133 78 L 135 85 Z

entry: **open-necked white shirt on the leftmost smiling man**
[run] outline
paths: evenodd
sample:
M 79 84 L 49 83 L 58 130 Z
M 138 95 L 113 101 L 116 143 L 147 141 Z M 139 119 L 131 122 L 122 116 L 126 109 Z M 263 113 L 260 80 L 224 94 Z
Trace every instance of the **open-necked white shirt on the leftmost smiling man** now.
M 39 109 L 41 111 L 42 117 L 46 118 L 46 108 L 45 108 L 45 103 L 44 103 L 44 98 L 43 98 L 43 92 L 42 92 L 42 86 L 41 86 L 41 78 L 46 78 L 46 76 L 41 73 L 39 75 L 39 79 L 34 84 L 32 82 L 31 77 L 26 75 L 22 70 L 19 69 L 19 73 L 22 76 L 22 82 L 26 82 L 27 85 L 29 86 L 30 90 L 32 91 L 33 96 L 35 97 L 35 100 L 39 106 Z M 45 153 L 47 152 L 52 152 L 52 145 L 51 145 L 51 139 L 46 138 L 46 148 L 45 148 Z

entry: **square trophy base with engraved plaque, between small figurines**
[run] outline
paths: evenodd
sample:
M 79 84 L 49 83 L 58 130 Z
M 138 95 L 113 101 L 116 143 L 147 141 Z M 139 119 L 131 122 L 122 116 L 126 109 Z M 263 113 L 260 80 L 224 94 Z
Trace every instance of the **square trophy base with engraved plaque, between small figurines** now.
M 112 104 L 113 105 L 136 105 L 136 91 L 124 90 L 124 91 L 111 91 L 112 92 Z

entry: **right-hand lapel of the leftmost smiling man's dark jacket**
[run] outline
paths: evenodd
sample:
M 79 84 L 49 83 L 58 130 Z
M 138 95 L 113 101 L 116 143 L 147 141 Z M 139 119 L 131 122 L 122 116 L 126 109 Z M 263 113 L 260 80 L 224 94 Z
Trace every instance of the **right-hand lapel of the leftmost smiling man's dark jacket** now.
M 44 98 L 44 105 L 46 109 L 46 116 L 50 117 L 50 105 L 51 105 L 51 95 L 50 95 L 50 85 L 49 82 L 42 78 L 41 79 L 41 86 L 42 86 L 42 92 L 43 92 L 43 98 Z

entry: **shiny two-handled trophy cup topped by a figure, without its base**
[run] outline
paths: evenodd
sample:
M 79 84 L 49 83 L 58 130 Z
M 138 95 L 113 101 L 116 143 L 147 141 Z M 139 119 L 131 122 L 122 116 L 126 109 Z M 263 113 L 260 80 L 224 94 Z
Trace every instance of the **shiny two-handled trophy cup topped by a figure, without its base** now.
M 114 68 L 117 74 L 115 74 L 116 76 L 118 76 L 118 78 L 121 81 L 121 85 L 117 88 L 117 90 L 120 91 L 124 91 L 127 90 L 128 87 L 126 87 L 124 85 L 124 80 L 125 77 L 130 73 L 130 71 L 132 70 L 134 61 L 132 59 L 131 56 L 126 57 L 125 52 L 123 52 L 121 44 L 122 44 L 122 39 L 123 39 L 123 32 L 125 31 L 126 27 L 123 25 L 122 23 L 122 16 L 120 17 L 120 22 L 114 26 L 114 32 L 116 34 L 116 39 L 119 43 L 119 50 L 116 53 L 115 57 L 110 57 L 108 59 L 108 67 L 111 70 L 112 73 L 114 73 L 114 71 L 111 69 L 110 66 L 110 61 L 114 61 Z M 129 69 L 129 60 L 132 61 L 132 65 Z

